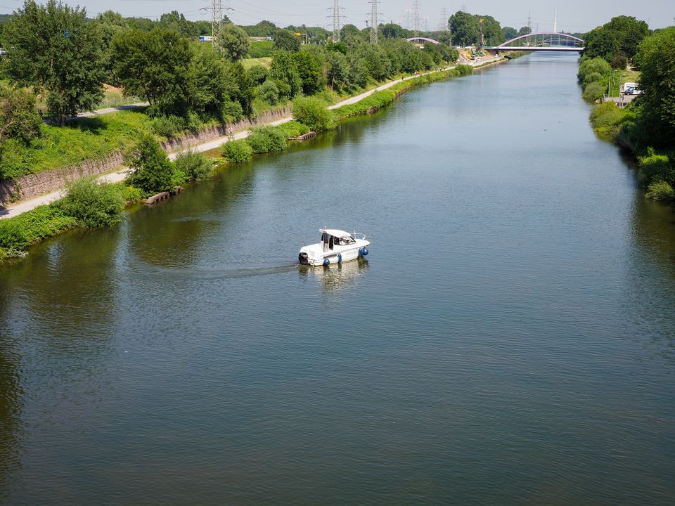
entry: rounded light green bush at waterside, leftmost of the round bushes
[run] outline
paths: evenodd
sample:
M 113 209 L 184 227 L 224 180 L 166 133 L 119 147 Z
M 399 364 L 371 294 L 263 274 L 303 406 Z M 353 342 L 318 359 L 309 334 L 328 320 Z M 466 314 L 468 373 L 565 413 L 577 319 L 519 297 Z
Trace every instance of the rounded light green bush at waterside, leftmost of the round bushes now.
M 99 183 L 92 176 L 69 183 L 65 197 L 53 206 L 82 226 L 98 227 L 121 220 L 124 198 L 115 186 Z

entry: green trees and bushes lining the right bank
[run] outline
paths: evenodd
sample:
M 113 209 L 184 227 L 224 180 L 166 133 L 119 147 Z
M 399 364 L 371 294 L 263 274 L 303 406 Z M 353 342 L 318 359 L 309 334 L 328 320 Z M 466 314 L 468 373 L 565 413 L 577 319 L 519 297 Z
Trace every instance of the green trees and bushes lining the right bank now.
M 612 88 L 618 95 L 629 62 L 640 72 L 641 93 L 624 108 L 613 101 L 597 105 L 593 127 L 636 154 L 648 197 L 675 200 L 675 27 L 650 32 L 644 21 L 619 16 L 586 41 L 578 77 L 587 100 Z

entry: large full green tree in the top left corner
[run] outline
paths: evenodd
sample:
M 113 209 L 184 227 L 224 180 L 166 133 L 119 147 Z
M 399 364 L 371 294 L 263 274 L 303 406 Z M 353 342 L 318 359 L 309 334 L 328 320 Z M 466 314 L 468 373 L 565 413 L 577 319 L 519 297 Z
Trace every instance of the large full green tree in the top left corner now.
M 49 115 L 65 123 L 68 115 L 94 110 L 103 99 L 101 31 L 86 11 L 55 0 L 39 6 L 26 0 L 3 37 L 11 51 L 6 75 L 20 86 L 47 91 Z

